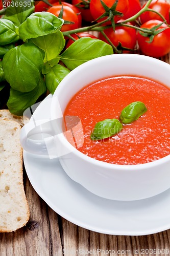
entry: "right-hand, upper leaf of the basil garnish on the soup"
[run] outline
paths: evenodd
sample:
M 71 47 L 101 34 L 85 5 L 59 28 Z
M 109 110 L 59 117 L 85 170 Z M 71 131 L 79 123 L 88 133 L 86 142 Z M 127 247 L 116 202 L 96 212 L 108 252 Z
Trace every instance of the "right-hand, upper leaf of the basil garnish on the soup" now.
M 132 123 L 139 119 L 147 111 L 147 107 L 141 101 L 130 103 L 120 114 L 120 121 L 124 124 Z

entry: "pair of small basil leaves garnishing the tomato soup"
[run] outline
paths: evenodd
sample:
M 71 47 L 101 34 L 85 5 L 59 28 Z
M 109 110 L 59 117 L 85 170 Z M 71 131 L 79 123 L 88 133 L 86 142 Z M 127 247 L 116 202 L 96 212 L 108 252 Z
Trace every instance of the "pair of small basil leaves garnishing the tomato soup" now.
M 105 119 L 95 124 L 91 133 L 91 140 L 102 140 L 119 133 L 123 129 L 123 124 L 129 124 L 139 119 L 147 111 L 147 107 L 141 101 L 130 103 L 120 114 L 118 119 Z

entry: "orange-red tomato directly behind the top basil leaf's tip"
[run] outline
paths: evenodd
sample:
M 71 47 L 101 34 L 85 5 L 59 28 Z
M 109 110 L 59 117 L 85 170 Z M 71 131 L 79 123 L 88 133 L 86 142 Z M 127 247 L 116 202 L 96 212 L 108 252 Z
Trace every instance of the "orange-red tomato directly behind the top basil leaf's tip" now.
M 57 17 L 60 14 L 62 5 L 56 5 L 47 10 L 47 12 L 53 13 Z M 73 22 L 74 24 L 64 24 L 61 28 L 61 31 L 68 31 L 72 29 L 77 29 L 79 26 L 79 21 L 77 14 L 68 6 L 63 6 L 63 19 L 69 22 Z

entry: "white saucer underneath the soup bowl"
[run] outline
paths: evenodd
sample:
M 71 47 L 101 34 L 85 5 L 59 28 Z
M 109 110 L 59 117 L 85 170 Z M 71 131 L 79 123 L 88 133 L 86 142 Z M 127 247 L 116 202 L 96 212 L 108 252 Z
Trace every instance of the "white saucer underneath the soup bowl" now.
M 50 115 L 52 95 L 43 100 L 34 119 Z M 91 194 L 72 181 L 58 159 L 23 152 L 27 175 L 38 195 L 66 220 L 86 229 L 139 236 L 170 228 L 170 189 L 150 199 L 113 201 Z

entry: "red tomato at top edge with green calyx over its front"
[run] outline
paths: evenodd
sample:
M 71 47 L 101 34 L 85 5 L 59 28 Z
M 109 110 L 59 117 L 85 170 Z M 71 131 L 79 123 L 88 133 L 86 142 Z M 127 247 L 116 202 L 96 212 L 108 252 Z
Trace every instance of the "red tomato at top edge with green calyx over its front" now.
M 103 2 L 110 8 L 114 4 L 115 0 L 103 0 Z M 128 0 L 119 0 L 116 11 L 122 12 L 124 15 L 128 10 L 129 2 Z M 99 18 L 102 14 L 105 13 L 105 9 L 101 4 L 101 0 L 91 0 L 90 1 L 90 12 L 93 16 L 93 18 L 96 20 Z M 102 20 L 106 19 L 107 17 L 104 17 L 102 19 L 97 20 L 97 22 L 101 22 Z M 114 20 L 117 22 L 120 18 L 120 16 L 115 16 Z

